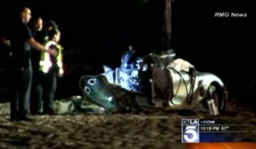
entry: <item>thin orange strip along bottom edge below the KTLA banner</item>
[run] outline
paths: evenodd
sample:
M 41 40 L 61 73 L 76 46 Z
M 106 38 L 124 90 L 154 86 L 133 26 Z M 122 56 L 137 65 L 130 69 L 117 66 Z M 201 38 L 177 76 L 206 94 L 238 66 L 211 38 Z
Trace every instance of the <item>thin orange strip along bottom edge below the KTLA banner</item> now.
M 189 143 L 185 149 L 255 149 L 256 143 Z

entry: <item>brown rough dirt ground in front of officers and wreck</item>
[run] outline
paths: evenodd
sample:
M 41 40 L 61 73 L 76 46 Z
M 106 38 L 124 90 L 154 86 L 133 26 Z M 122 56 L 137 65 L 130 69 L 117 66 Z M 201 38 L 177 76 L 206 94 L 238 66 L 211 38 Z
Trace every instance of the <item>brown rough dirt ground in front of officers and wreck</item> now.
M 256 124 L 255 106 L 230 100 L 223 121 Z M 10 122 L 9 103 L 0 105 L 0 148 L 186 148 L 182 118 L 210 118 L 199 113 L 153 115 L 33 116 L 33 122 Z M 245 128 L 244 128 L 245 129 Z M 255 141 L 247 134 L 242 140 Z

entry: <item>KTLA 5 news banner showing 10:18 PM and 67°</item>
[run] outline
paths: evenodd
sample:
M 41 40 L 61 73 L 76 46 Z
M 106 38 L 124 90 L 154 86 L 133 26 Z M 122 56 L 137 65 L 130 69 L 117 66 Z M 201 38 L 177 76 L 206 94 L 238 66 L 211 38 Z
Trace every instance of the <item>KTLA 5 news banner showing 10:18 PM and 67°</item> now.
M 181 124 L 182 143 L 242 142 L 256 135 L 255 125 L 220 124 L 217 120 L 200 119 L 182 119 Z

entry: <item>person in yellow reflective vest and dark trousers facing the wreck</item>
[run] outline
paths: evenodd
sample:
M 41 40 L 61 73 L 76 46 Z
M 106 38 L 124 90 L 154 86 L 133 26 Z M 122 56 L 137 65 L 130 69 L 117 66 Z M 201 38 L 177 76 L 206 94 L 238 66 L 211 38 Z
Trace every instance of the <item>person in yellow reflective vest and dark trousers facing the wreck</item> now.
M 45 47 L 56 49 L 58 54 L 51 56 L 46 52 L 41 52 L 40 68 L 41 86 L 43 95 L 43 114 L 54 114 L 53 100 L 57 88 L 57 77 L 63 74 L 62 69 L 62 47 L 59 45 L 60 31 L 52 29 L 48 32 L 49 39 L 45 42 Z

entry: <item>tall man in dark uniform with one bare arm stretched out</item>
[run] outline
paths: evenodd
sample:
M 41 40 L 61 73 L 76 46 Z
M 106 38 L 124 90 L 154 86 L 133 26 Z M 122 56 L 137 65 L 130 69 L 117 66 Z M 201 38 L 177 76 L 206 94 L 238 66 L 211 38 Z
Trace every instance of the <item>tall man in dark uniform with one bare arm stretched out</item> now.
M 28 117 L 28 106 L 31 86 L 31 63 L 30 46 L 38 51 L 44 51 L 49 54 L 56 54 L 54 49 L 45 48 L 36 42 L 31 34 L 27 23 L 31 18 L 31 11 L 28 7 L 23 7 L 19 11 L 19 18 L 12 23 L 12 26 L 6 29 L 3 42 L 7 43 L 12 52 L 9 66 L 9 91 L 11 100 L 11 121 L 25 120 L 30 121 Z

